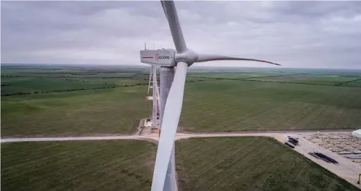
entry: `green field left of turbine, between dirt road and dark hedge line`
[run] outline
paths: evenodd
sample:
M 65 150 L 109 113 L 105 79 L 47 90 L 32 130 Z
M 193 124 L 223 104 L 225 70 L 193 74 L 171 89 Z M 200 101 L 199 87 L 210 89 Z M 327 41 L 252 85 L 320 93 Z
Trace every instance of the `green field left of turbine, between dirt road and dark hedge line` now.
M 150 116 L 147 87 L 1 98 L 1 136 L 133 134 Z

